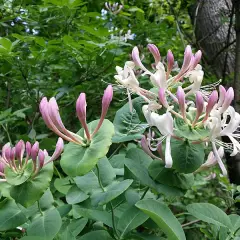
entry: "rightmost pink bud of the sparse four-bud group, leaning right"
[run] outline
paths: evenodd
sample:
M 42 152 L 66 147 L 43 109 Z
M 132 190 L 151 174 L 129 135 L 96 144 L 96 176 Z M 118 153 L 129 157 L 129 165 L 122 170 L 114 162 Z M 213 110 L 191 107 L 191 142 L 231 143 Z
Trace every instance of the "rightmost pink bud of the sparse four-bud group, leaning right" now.
M 104 90 L 103 98 L 102 98 L 102 113 L 101 113 L 101 118 L 98 122 L 97 127 L 95 128 L 92 136 L 96 134 L 96 132 L 99 130 L 99 128 L 102 126 L 103 120 L 107 114 L 109 105 L 112 101 L 113 98 L 113 88 L 112 85 L 108 85 L 107 88 Z

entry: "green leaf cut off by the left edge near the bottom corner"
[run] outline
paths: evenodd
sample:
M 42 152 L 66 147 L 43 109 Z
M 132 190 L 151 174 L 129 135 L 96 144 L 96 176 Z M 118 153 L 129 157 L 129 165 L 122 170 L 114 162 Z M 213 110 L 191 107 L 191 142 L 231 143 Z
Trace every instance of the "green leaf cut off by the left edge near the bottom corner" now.
M 0 232 L 14 229 L 26 221 L 27 218 L 13 200 L 0 202 Z

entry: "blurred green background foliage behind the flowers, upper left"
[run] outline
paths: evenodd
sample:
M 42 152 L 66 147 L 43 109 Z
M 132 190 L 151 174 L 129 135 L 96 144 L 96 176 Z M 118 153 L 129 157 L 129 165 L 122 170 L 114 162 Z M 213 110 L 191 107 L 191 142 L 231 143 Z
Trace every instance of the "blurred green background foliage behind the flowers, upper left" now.
M 120 3 L 119 3 L 120 4 Z M 75 101 L 87 93 L 88 120 L 100 115 L 103 90 L 114 83 L 115 66 L 138 45 L 172 49 L 182 57 L 192 36 L 186 1 L 122 1 L 113 14 L 104 1 L 0 1 L 0 143 L 54 138 L 38 105 L 56 97 L 67 128 L 79 129 Z M 130 32 L 131 31 L 131 32 Z M 146 49 L 146 48 L 145 48 Z M 126 102 L 115 92 L 109 118 Z M 17 112 L 16 112 L 17 111 Z M 41 144 L 51 148 L 53 141 Z M 46 142 L 47 141 L 47 142 Z

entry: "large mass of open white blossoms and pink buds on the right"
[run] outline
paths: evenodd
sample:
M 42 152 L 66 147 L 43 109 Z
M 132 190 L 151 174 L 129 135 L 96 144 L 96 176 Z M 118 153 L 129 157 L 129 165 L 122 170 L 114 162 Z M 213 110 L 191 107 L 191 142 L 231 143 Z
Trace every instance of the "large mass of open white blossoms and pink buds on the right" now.
M 133 61 L 127 61 L 123 68 L 117 66 L 115 75 L 118 84 L 127 89 L 130 110 L 132 93 L 141 96 L 146 103 L 142 111 L 150 129 L 141 140 L 143 150 L 151 157 L 165 161 L 166 168 L 171 168 L 173 165 L 171 138 L 179 141 L 187 139 L 186 136 L 179 134 L 180 123 L 181 126 L 187 126 L 196 133 L 204 131 L 204 135 L 199 134 L 198 139 L 187 139 L 192 144 L 208 146 L 210 143 L 212 146 L 210 153 L 212 157 L 208 158 L 200 170 L 218 163 L 223 175 L 227 175 L 221 160 L 222 147 L 231 150 L 232 156 L 240 151 L 240 144 L 236 140 L 240 136 L 236 132 L 240 115 L 230 106 L 234 99 L 233 89 L 230 87 L 226 90 L 220 85 L 218 92 L 216 87 L 219 83 L 202 86 L 204 72 L 199 64 L 202 56 L 200 50 L 193 54 L 191 47 L 187 46 L 180 69 L 174 67 L 174 56 L 170 50 L 165 61 L 161 61 L 160 52 L 154 44 L 148 44 L 148 50 L 154 58 L 153 70 L 150 71 L 144 66 L 138 48 L 134 47 Z M 140 75 L 148 76 L 154 88 L 151 90 L 141 88 L 138 80 Z M 157 134 L 152 130 L 156 128 Z M 222 142 L 222 136 L 228 136 L 231 143 Z M 163 141 L 165 154 L 162 150 Z M 219 150 L 217 145 L 220 146 Z

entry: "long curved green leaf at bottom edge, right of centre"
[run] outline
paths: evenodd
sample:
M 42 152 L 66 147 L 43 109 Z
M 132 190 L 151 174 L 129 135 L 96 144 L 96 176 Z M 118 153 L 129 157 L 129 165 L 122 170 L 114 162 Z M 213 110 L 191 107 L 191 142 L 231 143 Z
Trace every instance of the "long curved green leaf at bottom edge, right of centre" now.
M 157 200 L 144 199 L 137 202 L 136 207 L 157 223 L 159 228 L 167 235 L 168 240 L 186 239 L 181 224 L 171 210 L 163 203 Z

